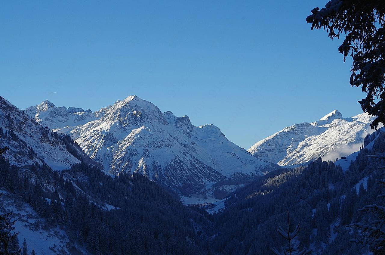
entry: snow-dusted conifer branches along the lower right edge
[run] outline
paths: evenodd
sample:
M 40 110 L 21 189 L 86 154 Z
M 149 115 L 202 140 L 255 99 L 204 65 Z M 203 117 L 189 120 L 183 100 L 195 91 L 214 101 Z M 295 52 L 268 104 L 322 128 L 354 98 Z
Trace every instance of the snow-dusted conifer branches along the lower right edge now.
M 385 160 L 385 156 L 368 155 L 368 158 L 377 158 L 378 161 Z M 377 168 L 378 170 L 385 169 L 385 166 Z M 383 173 L 385 174 L 385 173 Z M 385 179 L 377 179 L 376 183 L 385 188 Z M 379 195 L 378 198 L 385 198 L 385 194 Z M 348 227 L 360 230 L 361 235 L 357 239 L 350 240 L 351 242 L 369 245 L 369 249 L 374 255 L 385 254 L 385 207 L 379 205 L 366 205 L 359 211 L 371 213 L 374 220 L 367 225 L 361 223 L 352 223 Z

